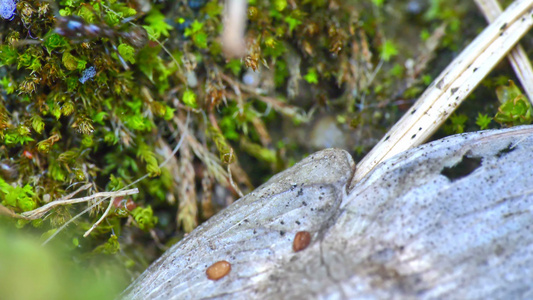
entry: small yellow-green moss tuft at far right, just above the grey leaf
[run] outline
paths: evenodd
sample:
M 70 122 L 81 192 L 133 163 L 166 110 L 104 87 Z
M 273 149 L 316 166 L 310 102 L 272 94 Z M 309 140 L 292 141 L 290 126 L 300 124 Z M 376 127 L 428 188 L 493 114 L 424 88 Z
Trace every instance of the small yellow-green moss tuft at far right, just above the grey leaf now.
M 499 86 L 496 95 L 501 105 L 494 121 L 506 126 L 531 124 L 531 103 L 512 80 L 508 86 Z

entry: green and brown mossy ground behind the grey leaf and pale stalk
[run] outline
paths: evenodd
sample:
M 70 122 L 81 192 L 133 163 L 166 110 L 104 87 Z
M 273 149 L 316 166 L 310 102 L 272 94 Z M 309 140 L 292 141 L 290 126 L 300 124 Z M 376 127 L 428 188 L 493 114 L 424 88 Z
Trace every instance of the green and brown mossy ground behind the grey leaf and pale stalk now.
M 148 174 L 89 237 L 109 201 L 53 240 L 79 264 L 104 259 L 134 277 L 307 153 L 362 157 L 485 27 L 464 1 L 250 0 L 247 54 L 228 60 L 222 13 L 216 0 L 18 1 L 0 25 L 3 207 L 20 214 Z M 68 27 L 73 16 L 102 31 Z M 502 63 L 438 136 L 530 123 L 523 95 L 501 87 L 509 78 Z M 501 104 L 487 101 L 498 86 Z M 46 238 L 87 207 L 4 223 Z

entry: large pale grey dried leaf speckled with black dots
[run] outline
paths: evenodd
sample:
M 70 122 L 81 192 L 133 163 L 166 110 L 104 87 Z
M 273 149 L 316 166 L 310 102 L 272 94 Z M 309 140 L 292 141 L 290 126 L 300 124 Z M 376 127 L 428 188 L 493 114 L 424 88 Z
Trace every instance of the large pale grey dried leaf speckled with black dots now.
M 123 297 L 531 299 L 532 162 L 532 126 L 461 134 L 346 193 L 350 156 L 324 150 L 197 228 Z M 312 239 L 294 252 L 299 231 Z M 208 279 L 221 260 L 229 274 Z

